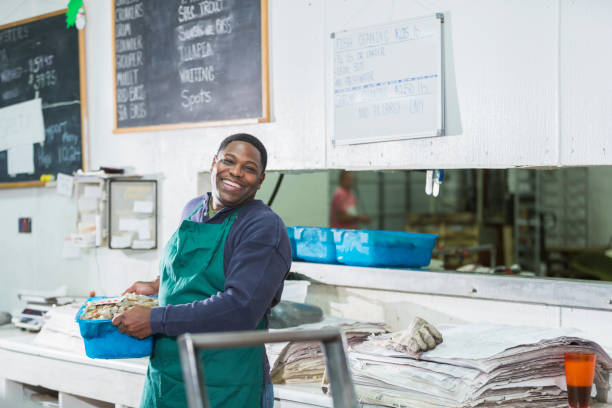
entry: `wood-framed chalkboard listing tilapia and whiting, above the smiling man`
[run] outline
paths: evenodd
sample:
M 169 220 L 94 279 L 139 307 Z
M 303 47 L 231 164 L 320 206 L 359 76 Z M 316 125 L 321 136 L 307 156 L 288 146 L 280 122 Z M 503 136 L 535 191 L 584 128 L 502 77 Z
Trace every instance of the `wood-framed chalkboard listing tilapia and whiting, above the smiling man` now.
M 115 132 L 267 121 L 267 0 L 113 0 Z

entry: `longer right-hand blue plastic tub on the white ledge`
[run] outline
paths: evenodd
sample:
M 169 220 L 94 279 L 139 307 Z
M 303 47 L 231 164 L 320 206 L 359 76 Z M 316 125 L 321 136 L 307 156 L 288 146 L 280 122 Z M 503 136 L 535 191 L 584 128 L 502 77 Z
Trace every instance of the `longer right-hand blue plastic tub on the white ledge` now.
M 438 238 L 434 234 L 373 230 L 336 229 L 333 234 L 338 262 L 357 266 L 427 266 Z

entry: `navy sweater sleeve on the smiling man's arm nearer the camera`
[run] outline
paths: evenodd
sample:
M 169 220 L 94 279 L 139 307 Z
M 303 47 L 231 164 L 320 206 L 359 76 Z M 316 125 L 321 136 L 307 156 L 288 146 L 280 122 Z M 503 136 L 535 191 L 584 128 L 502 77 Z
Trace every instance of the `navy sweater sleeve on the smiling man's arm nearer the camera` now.
M 178 336 L 255 329 L 291 266 L 288 238 L 282 236 L 286 230 L 280 218 L 271 215 L 248 222 L 237 234 L 222 292 L 202 301 L 153 308 L 153 332 Z

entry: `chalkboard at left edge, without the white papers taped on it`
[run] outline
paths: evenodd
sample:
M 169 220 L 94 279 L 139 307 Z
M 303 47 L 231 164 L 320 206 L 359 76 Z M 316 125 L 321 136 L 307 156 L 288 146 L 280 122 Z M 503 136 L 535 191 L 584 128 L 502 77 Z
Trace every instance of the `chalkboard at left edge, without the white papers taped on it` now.
M 0 27 L 0 108 L 39 97 L 45 129 L 44 142 L 34 144 L 34 173 L 9 174 L 9 153 L 0 151 L 0 188 L 42 185 L 43 174 L 83 168 L 83 38 L 66 28 L 65 12 Z

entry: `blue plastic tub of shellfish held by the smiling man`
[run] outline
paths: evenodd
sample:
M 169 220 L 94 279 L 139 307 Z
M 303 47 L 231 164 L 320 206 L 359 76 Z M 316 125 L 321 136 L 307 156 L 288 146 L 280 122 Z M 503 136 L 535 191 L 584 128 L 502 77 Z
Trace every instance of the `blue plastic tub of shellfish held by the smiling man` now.
M 87 301 L 106 299 L 95 296 Z M 153 352 L 153 336 L 138 339 L 119 332 L 111 319 L 83 320 L 81 314 L 85 305 L 81 306 L 76 315 L 81 336 L 85 342 L 85 354 L 90 358 L 135 358 L 150 356 Z

